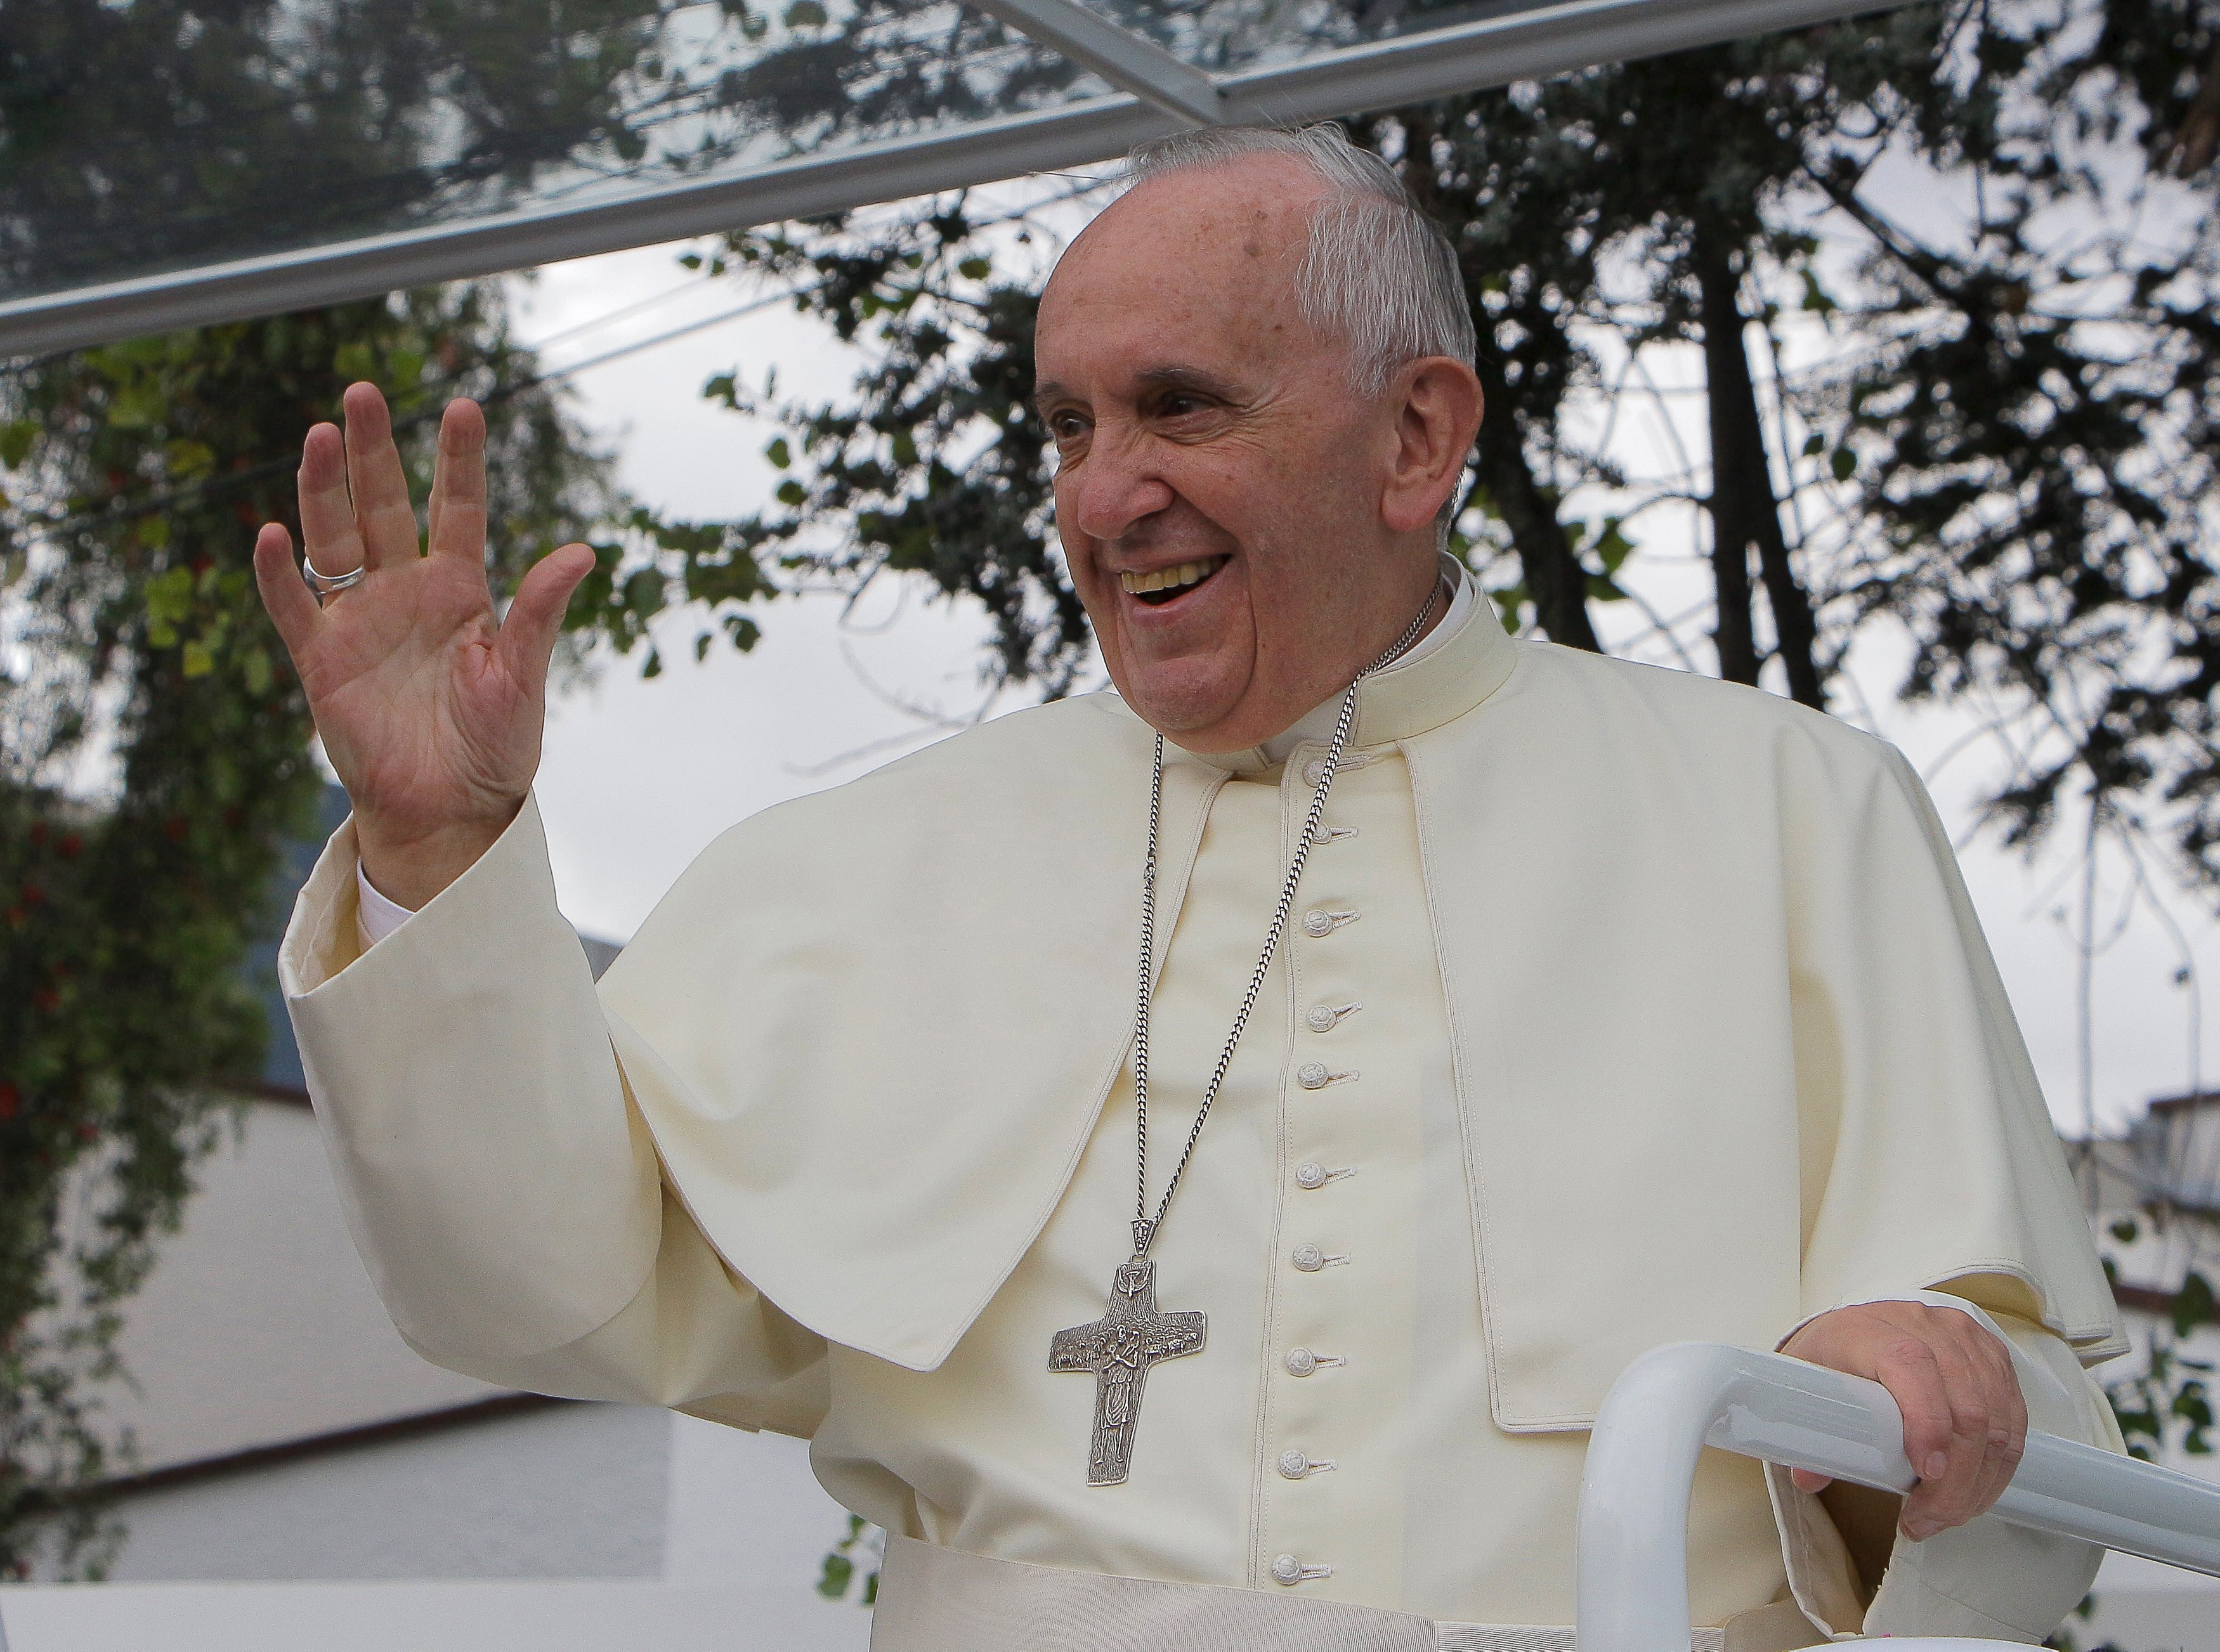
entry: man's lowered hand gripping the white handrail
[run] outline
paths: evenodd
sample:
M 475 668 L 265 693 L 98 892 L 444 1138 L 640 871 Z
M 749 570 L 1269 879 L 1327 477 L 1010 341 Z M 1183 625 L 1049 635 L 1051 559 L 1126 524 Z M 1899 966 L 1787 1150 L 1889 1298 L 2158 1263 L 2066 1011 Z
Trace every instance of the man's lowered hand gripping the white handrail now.
M 2011 1483 L 2027 1450 L 2027 1401 L 2005 1343 L 1971 1314 L 1918 1301 L 1836 1308 L 1780 1352 L 1867 1377 L 1896 1399 L 1905 1457 L 1920 1477 L 1896 1525 L 1914 1543 L 1987 1512 Z M 1796 1470 L 1798 1490 L 1827 1483 Z

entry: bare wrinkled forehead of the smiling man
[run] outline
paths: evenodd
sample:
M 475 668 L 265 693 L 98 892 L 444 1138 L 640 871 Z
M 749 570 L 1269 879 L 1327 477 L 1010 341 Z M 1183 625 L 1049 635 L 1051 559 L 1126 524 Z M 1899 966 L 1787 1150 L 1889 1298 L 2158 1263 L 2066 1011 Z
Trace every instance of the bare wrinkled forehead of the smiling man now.
M 1225 351 L 1314 342 L 1294 282 L 1323 193 L 1292 155 L 1134 184 L 1066 249 L 1041 291 L 1041 377 L 1061 377 L 1072 355 L 1168 335 Z

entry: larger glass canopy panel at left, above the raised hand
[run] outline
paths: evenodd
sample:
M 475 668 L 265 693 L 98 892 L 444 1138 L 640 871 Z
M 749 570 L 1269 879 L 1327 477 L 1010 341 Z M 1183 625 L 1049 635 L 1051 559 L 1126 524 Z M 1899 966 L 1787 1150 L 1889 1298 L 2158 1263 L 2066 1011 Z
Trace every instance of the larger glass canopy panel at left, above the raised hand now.
M 1110 91 L 952 0 L 7 11 L 0 302 L 591 209 Z

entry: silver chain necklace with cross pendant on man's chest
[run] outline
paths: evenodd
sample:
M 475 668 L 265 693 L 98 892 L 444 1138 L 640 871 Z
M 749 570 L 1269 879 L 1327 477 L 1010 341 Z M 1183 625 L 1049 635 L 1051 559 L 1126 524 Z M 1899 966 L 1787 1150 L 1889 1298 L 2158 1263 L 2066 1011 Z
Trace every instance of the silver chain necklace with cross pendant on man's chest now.
M 1439 588 L 1434 586 L 1434 591 Z M 1157 1230 L 1163 1226 L 1163 1215 L 1172 1208 L 1172 1195 L 1179 1192 L 1181 1177 L 1188 1175 L 1188 1159 L 1194 1157 L 1203 1121 L 1210 1119 L 1210 1106 L 1219 1099 L 1225 1068 L 1232 1066 L 1234 1046 L 1241 1044 L 1241 1032 L 1248 1030 L 1250 1010 L 1257 1008 L 1263 977 L 1272 968 L 1274 953 L 1279 953 L 1279 937 L 1288 928 L 1288 913 L 1294 910 L 1294 888 L 1303 882 L 1303 864 L 1310 859 L 1310 846 L 1319 839 L 1325 793 L 1334 784 L 1334 770 L 1341 766 L 1341 748 L 1348 746 L 1350 728 L 1356 724 L 1356 684 L 1376 671 L 1385 671 L 1410 651 L 1425 628 L 1425 615 L 1434 611 L 1434 591 L 1425 593 L 1425 602 L 1419 604 L 1419 613 L 1412 615 L 1412 622 L 1394 639 L 1394 646 L 1359 671 L 1356 679 L 1341 695 L 1334 737 L 1319 764 L 1319 786 L 1310 795 L 1310 810 L 1303 815 L 1303 837 L 1296 842 L 1288 877 L 1279 886 L 1279 901 L 1272 906 L 1272 926 L 1265 930 L 1257 968 L 1250 970 L 1248 993 L 1241 995 L 1241 1013 L 1234 1017 L 1234 1030 L 1225 1035 L 1225 1048 L 1219 1050 L 1219 1064 L 1210 1075 L 1210 1086 L 1203 1090 L 1203 1106 L 1194 1112 L 1188 1144 L 1179 1152 L 1179 1164 L 1172 1166 L 1172 1179 L 1163 1183 L 1163 1199 L 1157 1201 L 1157 1215 L 1152 1217 L 1148 1215 L 1148 1004 L 1157 953 L 1157 833 L 1163 824 L 1163 735 L 1157 735 L 1157 755 L 1148 788 L 1148 862 L 1141 868 L 1141 984 L 1132 1017 L 1132 1101 L 1137 1115 L 1132 1259 L 1119 1263 L 1117 1275 L 1110 1279 L 1110 1306 L 1103 1317 L 1088 1326 L 1059 1330 L 1048 1343 L 1048 1370 L 1094 1372 L 1094 1441 L 1088 1454 L 1088 1485 L 1121 1485 L 1126 1481 L 1126 1472 L 1132 1465 L 1134 1423 L 1141 1417 L 1141 1383 L 1148 1379 L 1150 1368 L 1166 1359 L 1201 1352 L 1201 1312 L 1168 1314 L 1157 1310 L 1157 1263 L 1148 1259 L 1148 1248 L 1157 1241 Z

